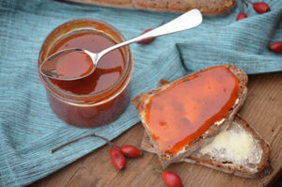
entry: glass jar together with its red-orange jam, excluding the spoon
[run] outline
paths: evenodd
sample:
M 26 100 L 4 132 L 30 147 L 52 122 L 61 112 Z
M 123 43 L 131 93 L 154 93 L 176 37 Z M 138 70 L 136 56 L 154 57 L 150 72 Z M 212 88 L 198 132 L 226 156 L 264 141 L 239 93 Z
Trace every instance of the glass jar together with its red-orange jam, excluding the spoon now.
M 38 67 L 62 49 L 81 48 L 97 53 L 123 41 L 121 34 L 103 22 L 73 20 L 55 28 L 45 39 Z M 131 51 L 125 46 L 102 57 L 96 70 L 83 79 L 61 81 L 39 76 L 58 117 L 74 126 L 94 127 L 110 123 L 125 111 L 132 70 Z

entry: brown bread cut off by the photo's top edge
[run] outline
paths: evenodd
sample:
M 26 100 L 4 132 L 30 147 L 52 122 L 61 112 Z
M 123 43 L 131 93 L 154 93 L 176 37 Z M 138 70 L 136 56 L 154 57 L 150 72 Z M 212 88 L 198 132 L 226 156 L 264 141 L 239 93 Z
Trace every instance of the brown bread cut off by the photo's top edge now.
M 142 10 L 187 12 L 194 8 L 205 15 L 224 15 L 235 7 L 235 0 L 65 0 L 86 4 Z

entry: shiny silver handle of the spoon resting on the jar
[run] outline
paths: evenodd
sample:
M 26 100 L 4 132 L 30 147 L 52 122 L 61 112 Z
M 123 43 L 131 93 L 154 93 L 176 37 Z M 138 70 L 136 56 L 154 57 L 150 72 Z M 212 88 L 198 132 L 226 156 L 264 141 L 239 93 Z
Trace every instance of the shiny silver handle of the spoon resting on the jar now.
M 153 29 L 152 31 L 149 31 L 145 34 L 142 34 L 140 36 L 137 36 L 125 42 L 118 43 L 114 46 L 111 46 L 101 51 L 100 53 L 98 53 L 98 58 L 101 58 L 106 53 L 114 49 L 120 48 L 122 46 L 131 44 L 131 43 L 135 43 L 135 42 L 138 42 L 144 39 L 152 38 L 152 37 L 157 37 L 157 36 L 162 36 L 165 34 L 187 30 L 187 29 L 196 27 L 201 23 L 202 23 L 202 14 L 200 13 L 200 11 L 197 9 L 190 10 L 182 14 L 181 16 L 177 17 L 176 19 L 173 19 L 172 21 L 164 25 L 161 25 L 158 28 Z

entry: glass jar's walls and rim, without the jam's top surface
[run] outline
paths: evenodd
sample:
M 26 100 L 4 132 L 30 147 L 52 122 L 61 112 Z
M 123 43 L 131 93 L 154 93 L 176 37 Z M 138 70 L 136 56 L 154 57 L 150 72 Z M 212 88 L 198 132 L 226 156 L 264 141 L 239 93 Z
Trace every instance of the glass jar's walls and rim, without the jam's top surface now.
M 38 68 L 52 54 L 52 48 L 56 43 L 73 34 L 85 32 L 101 32 L 115 43 L 125 41 L 118 31 L 100 21 L 77 19 L 66 22 L 55 28 L 46 37 L 39 53 Z M 49 78 L 38 71 L 54 113 L 65 122 L 79 127 L 101 126 L 117 119 L 125 111 L 130 101 L 129 82 L 133 71 L 130 48 L 122 47 L 120 52 L 124 59 L 124 69 L 119 79 L 106 90 L 97 93 L 78 95 L 68 92 L 53 84 Z

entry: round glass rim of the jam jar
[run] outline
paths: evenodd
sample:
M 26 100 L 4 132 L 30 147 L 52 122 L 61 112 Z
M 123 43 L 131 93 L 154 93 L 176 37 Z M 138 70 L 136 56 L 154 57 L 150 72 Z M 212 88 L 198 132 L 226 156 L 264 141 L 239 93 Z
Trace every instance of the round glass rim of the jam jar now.
M 70 20 L 68 22 L 65 22 L 61 25 L 58 25 L 57 27 L 55 27 L 49 34 L 48 36 L 45 38 L 44 42 L 42 43 L 42 46 L 41 46 L 41 49 L 40 49 L 40 52 L 39 52 L 39 57 L 38 57 L 38 64 L 42 63 L 42 51 L 45 47 L 45 43 L 46 41 L 49 39 L 49 37 L 52 36 L 52 34 L 54 32 L 56 32 L 57 30 L 59 30 L 60 28 L 64 27 L 65 25 L 69 25 L 71 23 L 75 23 L 75 22 L 87 22 L 87 21 L 90 21 L 90 22 L 96 22 L 98 24 L 101 24 L 101 25 L 106 25 L 108 28 L 110 28 L 112 31 L 114 31 L 118 37 L 120 37 L 120 39 L 122 41 L 125 41 L 125 37 L 118 31 L 116 30 L 112 25 L 108 24 L 108 23 L 105 23 L 103 21 L 100 21 L 100 20 L 94 20 L 94 19 L 73 19 L 73 20 Z M 94 27 L 82 27 L 82 28 L 76 28 L 76 29 L 72 29 L 71 31 L 67 32 L 65 35 L 73 32 L 73 31 L 79 31 L 79 30 L 83 30 L 83 29 L 91 29 L 93 31 L 98 31 L 98 32 L 103 32 L 101 30 L 98 30 L 98 29 L 95 29 Z M 104 32 L 103 32 L 104 33 Z M 107 34 L 107 33 L 104 33 L 104 34 Z M 108 36 L 110 36 L 109 34 L 107 34 Z M 111 37 L 111 36 L 110 36 Z M 111 37 L 112 38 L 112 37 Z M 113 38 L 112 38 L 113 39 Z M 115 40 L 114 40 L 115 41 Z M 115 41 L 116 42 L 116 41 Z M 111 85 L 109 88 L 103 90 L 103 91 L 99 91 L 99 92 L 96 92 L 96 93 L 92 93 L 92 94 L 86 94 L 86 95 L 79 95 L 79 94 L 75 94 L 75 93 L 71 93 L 71 92 L 68 92 L 64 89 L 61 89 L 59 88 L 58 86 L 54 85 L 47 77 L 44 77 L 43 75 L 41 75 L 41 73 L 39 73 L 39 75 L 41 76 L 41 78 L 44 80 L 44 82 L 46 82 L 49 86 L 52 86 L 53 89 L 55 89 L 56 91 L 58 92 L 61 92 L 63 93 L 64 95 L 67 95 L 67 96 L 71 96 L 71 97 L 80 97 L 80 98 L 84 98 L 84 97 L 94 97 L 94 96 L 100 96 L 100 95 L 103 95 L 111 90 L 113 90 L 117 85 L 119 85 L 120 83 L 122 83 L 124 81 L 124 79 L 126 78 L 126 76 L 128 76 L 128 78 L 130 79 L 131 77 L 131 74 L 132 73 L 128 73 L 130 71 L 130 67 L 131 67 L 131 50 L 129 48 L 129 46 L 125 46 L 125 52 L 123 54 L 124 58 L 125 58 L 125 69 L 122 73 L 122 75 L 119 77 L 119 79 L 113 84 Z

